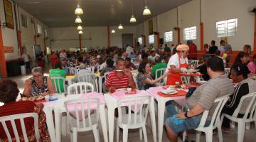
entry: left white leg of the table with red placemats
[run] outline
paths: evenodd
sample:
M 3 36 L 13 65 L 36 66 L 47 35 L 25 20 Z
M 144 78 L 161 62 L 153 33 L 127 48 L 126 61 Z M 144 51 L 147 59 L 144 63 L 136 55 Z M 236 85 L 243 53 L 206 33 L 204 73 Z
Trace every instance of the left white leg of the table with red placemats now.
M 159 97 L 158 101 L 158 129 L 159 129 L 159 142 L 162 141 L 163 136 L 163 126 L 164 126 L 164 110 L 165 102 L 163 97 Z

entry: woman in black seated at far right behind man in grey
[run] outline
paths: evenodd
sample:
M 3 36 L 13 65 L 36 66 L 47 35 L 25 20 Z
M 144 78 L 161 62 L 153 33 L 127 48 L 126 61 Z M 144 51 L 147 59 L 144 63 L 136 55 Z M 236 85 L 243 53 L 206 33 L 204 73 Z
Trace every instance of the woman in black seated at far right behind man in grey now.
M 233 115 L 235 109 L 237 109 L 238 104 L 240 103 L 241 97 L 245 96 L 246 94 L 256 92 L 256 82 L 255 80 L 247 77 L 248 73 L 250 73 L 250 71 L 248 70 L 246 65 L 235 64 L 233 65 L 233 67 L 231 67 L 230 78 L 233 80 L 233 82 L 238 83 L 238 85 L 235 87 L 234 94 L 230 96 L 230 99 L 223 107 L 223 113 L 230 116 Z M 247 104 L 249 104 L 249 102 Z M 243 117 L 243 115 L 245 114 L 245 109 L 245 106 L 241 108 L 241 111 L 238 114 L 239 118 Z M 229 119 L 224 117 L 221 129 L 225 133 L 228 133 L 230 131 Z

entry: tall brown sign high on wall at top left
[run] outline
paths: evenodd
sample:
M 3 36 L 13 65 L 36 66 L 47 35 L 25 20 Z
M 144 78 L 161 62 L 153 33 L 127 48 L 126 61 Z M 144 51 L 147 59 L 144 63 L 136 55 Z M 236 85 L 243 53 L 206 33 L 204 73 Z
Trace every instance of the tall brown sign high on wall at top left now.
M 14 15 L 12 4 L 8 0 L 4 0 L 4 15 L 6 18 L 6 27 L 14 29 Z

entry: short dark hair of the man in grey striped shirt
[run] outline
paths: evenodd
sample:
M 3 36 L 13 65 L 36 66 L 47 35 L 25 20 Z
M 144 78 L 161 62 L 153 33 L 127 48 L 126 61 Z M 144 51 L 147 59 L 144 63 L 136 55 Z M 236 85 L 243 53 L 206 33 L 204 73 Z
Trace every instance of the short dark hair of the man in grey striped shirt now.
M 213 72 L 224 72 L 225 70 L 223 60 L 218 57 L 208 59 L 207 67 L 210 67 Z

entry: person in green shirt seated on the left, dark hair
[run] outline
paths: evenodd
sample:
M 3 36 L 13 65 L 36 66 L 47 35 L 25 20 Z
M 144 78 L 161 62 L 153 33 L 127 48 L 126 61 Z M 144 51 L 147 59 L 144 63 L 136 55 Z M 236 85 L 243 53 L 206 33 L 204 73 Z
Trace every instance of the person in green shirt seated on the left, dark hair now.
M 63 66 L 62 66 L 61 62 L 56 62 L 55 63 L 55 69 L 50 70 L 49 77 L 63 77 L 63 78 L 65 78 L 66 77 L 66 72 L 64 70 L 62 70 L 62 67 Z M 59 81 L 60 82 L 60 89 L 58 88 L 58 85 L 56 84 L 57 86 L 55 86 L 55 89 L 57 90 L 58 93 L 65 92 L 64 85 L 62 85 L 64 81 L 65 80 L 60 80 Z M 54 82 L 54 80 L 52 80 L 52 82 Z

